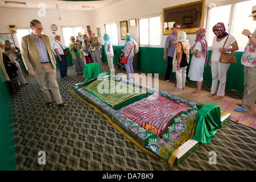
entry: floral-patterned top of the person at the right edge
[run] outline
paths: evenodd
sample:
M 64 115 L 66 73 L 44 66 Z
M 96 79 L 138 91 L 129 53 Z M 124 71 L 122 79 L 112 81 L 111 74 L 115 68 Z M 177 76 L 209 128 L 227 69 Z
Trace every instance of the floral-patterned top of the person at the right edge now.
M 256 36 L 256 30 L 253 32 L 253 35 Z M 256 67 L 256 47 L 248 40 L 248 43 L 243 51 L 241 64 L 247 67 Z

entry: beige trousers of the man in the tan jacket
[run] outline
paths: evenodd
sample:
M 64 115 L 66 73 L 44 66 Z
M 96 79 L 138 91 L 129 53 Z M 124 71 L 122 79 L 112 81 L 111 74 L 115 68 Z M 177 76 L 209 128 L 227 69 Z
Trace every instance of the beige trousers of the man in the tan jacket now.
M 55 98 L 56 104 L 63 103 L 61 96 L 59 85 L 56 80 L 56 70 L 53 68 L 52 63 L 41 64 L 42 65 L 42 73 L 36 73 L 36 78 L 38 78 L 40 89 L 43 92 L 44 100 L 47 102 L 51 102 L 51 95 L 48 90 L 47 82 L 49 88 L 52 90 L 53 97 Z

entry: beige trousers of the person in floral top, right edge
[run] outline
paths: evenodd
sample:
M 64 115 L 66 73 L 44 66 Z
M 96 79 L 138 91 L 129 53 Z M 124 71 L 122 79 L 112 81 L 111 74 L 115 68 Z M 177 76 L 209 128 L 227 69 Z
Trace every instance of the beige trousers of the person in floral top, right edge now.
M 250 112 L 256 101 L 256 67 L 245 66 L 245 89 L 243 90 L 242 110 Z

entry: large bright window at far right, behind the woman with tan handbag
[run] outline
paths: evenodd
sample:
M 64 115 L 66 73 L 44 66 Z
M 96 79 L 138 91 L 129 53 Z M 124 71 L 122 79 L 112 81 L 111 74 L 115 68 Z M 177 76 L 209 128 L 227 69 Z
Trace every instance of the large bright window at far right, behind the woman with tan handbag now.
M 253 21 L 253 18 L 248 17 L 254 5 L 255 1 L 243 1 L 209 7 L 207 19 L 208 46 L 212 46 L 212 40 L 215 36 L 212 32 L 212 27 L 214 24 L 222 22 L 226 26 L 226 31 L 236 38 L 239 47 L 238 51 L 243 51 L 248 41 L 246 36 L 242 34 L 243 29 L 248 29 L 250 32 L 253 32 L 256 26 L 256 22 Z

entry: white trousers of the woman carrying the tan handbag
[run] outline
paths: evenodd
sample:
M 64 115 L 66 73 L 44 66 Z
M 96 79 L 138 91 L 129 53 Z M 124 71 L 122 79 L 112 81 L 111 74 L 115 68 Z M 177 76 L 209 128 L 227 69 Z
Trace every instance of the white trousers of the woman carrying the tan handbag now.
M 217 91 L 217 96 L 225 96 L 226 87 L 226 72 L 228 72 L 229 65 L 227 63 L 220 63 L 219 61 L 212 61 L 212 88 L 210 93 L 214 94 Z M 220 84 L 218 85 L 218 80 Z

